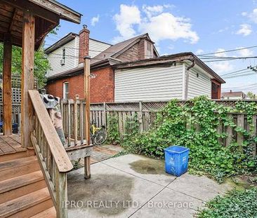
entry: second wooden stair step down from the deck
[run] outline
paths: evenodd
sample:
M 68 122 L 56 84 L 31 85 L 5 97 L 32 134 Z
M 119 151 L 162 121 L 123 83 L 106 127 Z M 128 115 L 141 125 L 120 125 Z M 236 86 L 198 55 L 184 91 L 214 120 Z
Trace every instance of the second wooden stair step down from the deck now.
M 45 187 L 46 182 L 40 170 L 6 179 L 0 182 L 0 204 Z

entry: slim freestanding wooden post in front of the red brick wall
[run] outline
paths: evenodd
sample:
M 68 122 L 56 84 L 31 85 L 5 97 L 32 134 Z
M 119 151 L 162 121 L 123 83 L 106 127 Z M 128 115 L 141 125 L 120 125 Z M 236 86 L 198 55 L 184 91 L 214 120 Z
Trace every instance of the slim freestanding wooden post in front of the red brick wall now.
M 85 136 L 86 144 L 90 145 L 90 57 L 84 57 L 84 97 L 86 98 L 86 110 L 85 110 Z M 84 177 L 89 179 L 91 177 L 90 169 L 91 157 L 86 156 L 84 158 Z

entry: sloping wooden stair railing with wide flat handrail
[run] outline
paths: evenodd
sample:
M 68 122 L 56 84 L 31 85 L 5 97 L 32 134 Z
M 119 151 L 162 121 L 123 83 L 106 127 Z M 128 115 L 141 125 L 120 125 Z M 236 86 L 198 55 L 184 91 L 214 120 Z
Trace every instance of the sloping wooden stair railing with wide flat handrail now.
M 39 159 L 48 190 L 53 199 L 57 217 L 67 217 L 67 172 L 73 166 L 62 146 L 62 142 L 44 107 L 39 92 L 29 90 L 29 97 L 34 107 L 34 131 L 31 140 Z

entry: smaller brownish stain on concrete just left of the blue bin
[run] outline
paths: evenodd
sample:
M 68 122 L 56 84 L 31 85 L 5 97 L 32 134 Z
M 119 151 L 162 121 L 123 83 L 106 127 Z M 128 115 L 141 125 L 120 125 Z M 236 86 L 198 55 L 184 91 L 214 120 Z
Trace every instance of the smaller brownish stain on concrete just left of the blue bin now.
M 130 163 L 131 169 L 140 174 L 162 175 L 166 174 L 164 169 L 164 161 L 155 159 L 139 160 Z

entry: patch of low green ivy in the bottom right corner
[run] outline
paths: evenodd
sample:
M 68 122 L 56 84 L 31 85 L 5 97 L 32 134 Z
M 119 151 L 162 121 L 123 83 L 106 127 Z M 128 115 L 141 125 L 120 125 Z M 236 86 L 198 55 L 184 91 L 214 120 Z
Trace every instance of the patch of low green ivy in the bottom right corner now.
M 231 191 L 225 197 L 216 197 L 206 204 L 206 209 L 198 214 L 199 218 L 249 218 L 256 217 L 257 189 Z

